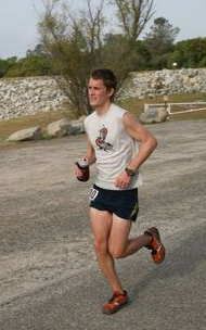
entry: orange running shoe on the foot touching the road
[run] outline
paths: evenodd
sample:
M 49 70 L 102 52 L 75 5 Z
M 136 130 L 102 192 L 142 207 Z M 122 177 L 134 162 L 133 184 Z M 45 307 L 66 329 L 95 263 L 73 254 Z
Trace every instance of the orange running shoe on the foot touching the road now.
M 115 291 L 107 304 L 102 306 L 103 314 L 114 314 L 118 312 L 125 304 L 128 303 L 127 292 L 120 293 Z

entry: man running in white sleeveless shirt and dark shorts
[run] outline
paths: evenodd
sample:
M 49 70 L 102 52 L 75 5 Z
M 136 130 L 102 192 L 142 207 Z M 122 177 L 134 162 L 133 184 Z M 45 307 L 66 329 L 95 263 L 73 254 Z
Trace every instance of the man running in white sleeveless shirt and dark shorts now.
M 112 299 L 102 307 L 104 314 L 116 313 L 128 303 L 115 259 L 127 257 L 143 246 L 151 250 L 155 264 L 165 258 L 157 228 L 149 228 L 143 234 L 129 238 L 139 211 L 138 188 L 142 183 L 139 168 L 157 141 L 132 113 L 113 103 L 116 86 L 112 71 L 91 72 L 88 94 L 94 111 L 85 119 L 88 148 L 83 157 L 89 165 L 96 163 L 96 179 L 90 196 L 93 245 L 102 274 L 112 288 Z M 75 175 L 82 175 L 77 166 Z

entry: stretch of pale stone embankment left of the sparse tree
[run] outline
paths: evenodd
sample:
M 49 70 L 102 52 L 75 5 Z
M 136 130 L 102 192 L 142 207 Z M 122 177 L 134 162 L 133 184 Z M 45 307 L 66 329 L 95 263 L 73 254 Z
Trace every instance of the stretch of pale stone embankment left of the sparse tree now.
M 0 79 L 0 120 L 59 111 L 67 102 L 54 78 Z

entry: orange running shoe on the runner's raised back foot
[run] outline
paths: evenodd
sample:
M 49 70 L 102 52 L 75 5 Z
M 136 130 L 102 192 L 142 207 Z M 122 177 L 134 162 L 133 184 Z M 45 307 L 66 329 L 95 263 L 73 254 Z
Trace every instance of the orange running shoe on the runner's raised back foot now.
M 144 234 L 152 236 L 152 242 L 146 245 L 147 249 L 152 250 L 151 254 L 155 264 L 160 264 L 165 259 L 165 246 L 160 241 L 160 234 L 157 228 L 152 227 L 144 231 Z

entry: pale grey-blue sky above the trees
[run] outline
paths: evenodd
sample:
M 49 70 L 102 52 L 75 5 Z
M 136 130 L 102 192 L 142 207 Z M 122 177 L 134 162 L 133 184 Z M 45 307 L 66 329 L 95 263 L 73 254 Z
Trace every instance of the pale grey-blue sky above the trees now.
M 43 12 L 43 0 L 0 0 L 0 59 L 26 55 L 39 43 L 37 23 Z M 83 0 L 70 0 L 73 8 Z M 93 0 L 96 4 L 99 0 Z M 180 33 L 176 41 L 206 37 L 206 0 L 155 0 L 155 14 L 163 16 Z M 111 13 L 108 13 L 111 15 Z M 149 30 L 147 24 L 146 30 Z

